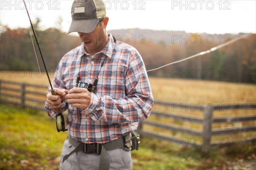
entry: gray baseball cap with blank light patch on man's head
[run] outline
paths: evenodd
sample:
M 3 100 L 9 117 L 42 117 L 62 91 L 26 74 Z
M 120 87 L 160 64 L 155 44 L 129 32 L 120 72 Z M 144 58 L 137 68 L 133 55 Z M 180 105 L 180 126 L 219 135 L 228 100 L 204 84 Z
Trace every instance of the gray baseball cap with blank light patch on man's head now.
M 71 8 L 72 23 L 70 32 L 93 32 L 99 19 L 106 15 L 102 0 L 74 0 Z

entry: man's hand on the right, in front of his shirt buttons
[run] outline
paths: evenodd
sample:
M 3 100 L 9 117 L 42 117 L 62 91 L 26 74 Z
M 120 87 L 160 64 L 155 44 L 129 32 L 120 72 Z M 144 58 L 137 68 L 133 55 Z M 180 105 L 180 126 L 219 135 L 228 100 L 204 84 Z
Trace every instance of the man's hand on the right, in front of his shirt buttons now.
M 66 95 L 67 103 L 70 103 L 73 107 L 78 107 L 82 110 L 86 109 L 91 100 L 91 93 L 85 88 L 75 87 L 68 91 Z

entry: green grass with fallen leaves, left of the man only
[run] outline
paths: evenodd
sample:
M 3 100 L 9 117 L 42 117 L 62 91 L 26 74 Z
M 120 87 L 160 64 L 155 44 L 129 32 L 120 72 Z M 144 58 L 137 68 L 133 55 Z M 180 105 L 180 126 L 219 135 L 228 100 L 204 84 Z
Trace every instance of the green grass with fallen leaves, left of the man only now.
M 21 110 L 1 105 L 0 169 L 58 169 L 67 133 L 58 133 L 46 112 Z

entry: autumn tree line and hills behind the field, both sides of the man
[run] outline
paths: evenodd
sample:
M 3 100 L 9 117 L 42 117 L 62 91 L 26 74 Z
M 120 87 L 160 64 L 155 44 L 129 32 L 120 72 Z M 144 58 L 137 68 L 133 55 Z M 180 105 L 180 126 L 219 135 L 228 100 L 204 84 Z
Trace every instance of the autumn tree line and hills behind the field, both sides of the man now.
M 58 28 L 40 30 L 38 23 L 35 23 L 34 27 L 47 69 L 55 70 L 61 57 L 70 49 L 79 46 L 81 41 L 79 37 L 67 35 Z M 142 55 L 147 70 L 195 55 L 221 43 L 229 43 L 233 38 L 243 35 L 198 35 L 184 34 L 184 32 L 182 35 L 179 34 L 180 32 L 167 35 L 163 31 L 162 36 L 166 34 L 165 39 L 156 42 L 146 34 L 143 35 L 143 30 L 139 30 L 140 33 L 136 30 L 138 29 L 123 30 L 122 35 L 114 30 L 109 32 L 117 40 L 134 46 Z M 29 32 L 28 28 L 10 29 L 1 25 L 0 68 L 2 70 L 38 69 L 31 40 L 34 36 L 31 34 L 32 30 Z M 36 44 L 34 45 L 40 68 L 44 70 L 38 48 Z M 209 54 L 148 72 L 148 75 L 256 83 L 256 34 L 250 34 Z

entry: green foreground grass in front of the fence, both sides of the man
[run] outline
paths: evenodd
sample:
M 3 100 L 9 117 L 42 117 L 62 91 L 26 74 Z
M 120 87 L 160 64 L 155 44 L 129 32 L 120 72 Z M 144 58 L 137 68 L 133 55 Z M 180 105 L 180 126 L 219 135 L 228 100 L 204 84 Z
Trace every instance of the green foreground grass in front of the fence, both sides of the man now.
M 67 133 L 58 133 L 46 112 L 0 109 L 0 170 L 57 170 Z M 143 138 L 132 152 L 134 170 L 256 169 L 255 143 L 213 148 L 209 154 L 157 139 Z

